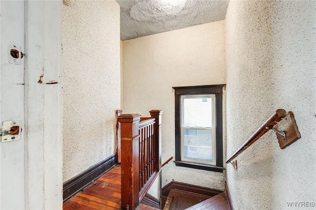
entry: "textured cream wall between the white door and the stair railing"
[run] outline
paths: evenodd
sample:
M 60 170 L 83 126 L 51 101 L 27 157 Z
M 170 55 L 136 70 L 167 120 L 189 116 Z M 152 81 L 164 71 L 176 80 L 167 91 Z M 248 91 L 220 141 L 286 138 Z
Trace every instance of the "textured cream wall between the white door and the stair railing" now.
M 63 180 L 116 152 L 120 108 L 119 5 L 63 6 Z

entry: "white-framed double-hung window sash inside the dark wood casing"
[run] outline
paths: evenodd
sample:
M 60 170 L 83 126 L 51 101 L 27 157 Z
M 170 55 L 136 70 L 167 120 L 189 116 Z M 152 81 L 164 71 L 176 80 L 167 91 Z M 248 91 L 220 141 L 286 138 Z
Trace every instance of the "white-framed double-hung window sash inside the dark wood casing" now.
M 216 165 L 215 95 L 181 96 L 181 160 Z

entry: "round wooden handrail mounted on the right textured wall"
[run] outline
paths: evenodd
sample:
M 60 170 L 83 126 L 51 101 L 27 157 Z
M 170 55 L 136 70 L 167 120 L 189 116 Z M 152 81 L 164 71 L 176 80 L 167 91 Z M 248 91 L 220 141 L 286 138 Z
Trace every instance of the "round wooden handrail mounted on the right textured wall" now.
M 273 113 L 269 119 L 264 122 L 260 128 L 249 137 L 238 149 L 237 151 L 226 161 L 226 163 L 230 163 L 233 159 L 235 159 L 241 152 L 243 152 L 246 148 L 248 148 L 251 144 L 253 144 L 256 140 L 262 137 L 267 131 L 271 129 L 271 126 L 275 126 L 283 117 L 286 116 L 286 111 L 284 109 L 277 109 L 275 113 Z M 269 128 L 270 126 L 270 128 Z M 233 164 L 234 165 L 234 164 Z

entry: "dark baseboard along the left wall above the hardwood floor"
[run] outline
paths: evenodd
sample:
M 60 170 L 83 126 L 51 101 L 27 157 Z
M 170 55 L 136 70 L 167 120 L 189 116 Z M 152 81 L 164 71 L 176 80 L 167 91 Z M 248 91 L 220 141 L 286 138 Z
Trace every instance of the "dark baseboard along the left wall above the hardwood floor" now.
M 64 182 L 63 184 L 63 202 L 70 199 L 77 194 L 84 187 L 91 184 L 94 180 L 99 178 L 104 173 L 108 172 L 118 163 L 117 154 L 113 154 L 107 159 L 91 166 L 81 174 L 73 177 L 72 179 Z

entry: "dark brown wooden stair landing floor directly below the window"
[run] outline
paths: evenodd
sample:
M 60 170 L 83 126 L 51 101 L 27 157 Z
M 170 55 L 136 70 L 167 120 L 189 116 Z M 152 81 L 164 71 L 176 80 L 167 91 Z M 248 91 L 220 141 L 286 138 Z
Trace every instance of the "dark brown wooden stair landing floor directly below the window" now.
M 208 198 L 204 195 L 172 189 L 163 210 L 184 210 Z

